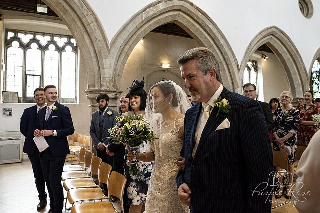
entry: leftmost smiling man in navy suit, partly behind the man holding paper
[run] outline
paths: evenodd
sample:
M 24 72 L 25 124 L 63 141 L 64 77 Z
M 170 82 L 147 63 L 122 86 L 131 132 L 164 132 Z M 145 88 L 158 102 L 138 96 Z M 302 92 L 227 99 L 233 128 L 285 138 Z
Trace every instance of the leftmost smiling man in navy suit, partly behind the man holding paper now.
M 39 150 L 33 141 L 33 132 L 37 129 L 38 111 L 45 105 L 44 88 L 38 87 L 33 97 L 36 105 L 26 108 L 20 118 L 20 132 L 26 137 L 23 144 L 23 152 L 28 154 L 28 158 L 32 165 L 33 175 L 36 179 L 36 188 L 38 190 L 39 204 L 37 210 L 43 209 L 47 204 L 47 193 L 44 190 L 44 177 L 40 165 Z

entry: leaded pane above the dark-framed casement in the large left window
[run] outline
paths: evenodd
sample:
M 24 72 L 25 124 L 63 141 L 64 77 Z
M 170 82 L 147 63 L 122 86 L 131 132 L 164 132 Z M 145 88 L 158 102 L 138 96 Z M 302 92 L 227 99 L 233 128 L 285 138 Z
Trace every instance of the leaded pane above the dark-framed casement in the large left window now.
M 28 75 L 41 75 L 41 50 L 36 49 L 36 43 L 31 44 L 31 49 L 27 50 L 26 55 L 26 74 Z

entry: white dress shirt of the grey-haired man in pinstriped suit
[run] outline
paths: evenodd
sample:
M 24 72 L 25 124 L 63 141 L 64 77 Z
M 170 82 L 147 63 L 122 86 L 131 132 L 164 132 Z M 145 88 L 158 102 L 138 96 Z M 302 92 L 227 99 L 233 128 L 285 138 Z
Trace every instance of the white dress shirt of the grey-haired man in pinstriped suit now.
M 204 105 L 209 104 L 211 106 L 211 109 L 210 109 L 210 113 L 211 113 L 212 109 L 214 107 L 214 101 L 215 101 L 215 99 L 217 99 L 220 96 L 222 90 L 223 90 L 223 86 L 222 86 L 222 84 L 220 84 L 218 90 L 212 95 L 212 97 L 208 100 L 208 102 L 202 102 L 202 111 L 200 112 L 200 115 L 199 115 L 199 119 L 198 119 L 198 123 L 197 123 L 197 127 L 196 127 L 196 133 L 195 133 L 196 144 L 195 144 L 195 147 L 193 148 L 193 151 L 192 151 L 192 157 L 194 157 L 196 154 L 196 150 L 199 145 L 202 131 L 204 129 L 205 123 L 207 122 L 207 121 L 204 121 L 204 113 L 203 113 L 204 112 Z M 203 125 L 201 125 L 203 122 L 205 122 L 205 123 Z

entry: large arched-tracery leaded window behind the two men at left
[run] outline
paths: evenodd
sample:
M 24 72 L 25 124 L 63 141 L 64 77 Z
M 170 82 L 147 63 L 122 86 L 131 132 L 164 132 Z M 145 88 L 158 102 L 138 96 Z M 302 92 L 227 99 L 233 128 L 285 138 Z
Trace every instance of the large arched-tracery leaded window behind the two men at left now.
M 76 103 L 77 45 L 72 36 L 6 30 L 4 90 L 34 102 L 34 90 L 53 84 L 61 103 Z

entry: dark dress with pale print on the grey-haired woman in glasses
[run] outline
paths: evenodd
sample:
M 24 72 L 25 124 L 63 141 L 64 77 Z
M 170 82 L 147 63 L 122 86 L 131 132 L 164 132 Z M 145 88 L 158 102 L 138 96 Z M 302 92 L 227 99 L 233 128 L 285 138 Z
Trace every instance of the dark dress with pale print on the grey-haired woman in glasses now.
M 297 151 L 295 143 L 297 141 L 297 131 L 300 124 L 299 110 L 296 108 L 291 108 L 289 110 L 282 110 L 281 108 L 276 109 L 273 114 L 273 120 L 275 121 L 275 128 L 272 132 L 276 132 L 279 138 L 284 137 L 289 132 L 293 135 L 284 141 L 285 146 L 291 147 L 291 155 L 288 155 L 287 162 L 288 164 L 293 164 Z M 274 138 L 273 140 L 273 150 L 280 151 L 276 139 Z

